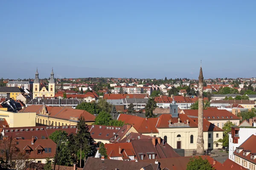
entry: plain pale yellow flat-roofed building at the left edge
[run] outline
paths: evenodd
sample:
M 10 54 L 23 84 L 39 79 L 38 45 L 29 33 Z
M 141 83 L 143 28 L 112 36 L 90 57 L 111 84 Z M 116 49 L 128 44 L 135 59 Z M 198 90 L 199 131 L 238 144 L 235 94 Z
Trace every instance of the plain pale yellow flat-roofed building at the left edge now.
M 0 118 L 6 119 L 9 127 L 31 127 L 35 126 L 36 113 L 16 113 L 0 110 Z

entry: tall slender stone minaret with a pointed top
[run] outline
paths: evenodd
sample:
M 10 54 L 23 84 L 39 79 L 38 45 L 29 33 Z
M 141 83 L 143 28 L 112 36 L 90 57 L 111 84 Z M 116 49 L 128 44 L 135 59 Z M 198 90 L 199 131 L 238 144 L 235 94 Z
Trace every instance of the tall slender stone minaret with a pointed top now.
M 203 87 L 204 77 L 202 66 L 199 73 L 199 96 L 198 96 L 198 140 L 197 140 L 197 155 L 204 155 L 204 136 L 203 136 L 203 111 L 204 111 L 204 99 L 203 99 Z

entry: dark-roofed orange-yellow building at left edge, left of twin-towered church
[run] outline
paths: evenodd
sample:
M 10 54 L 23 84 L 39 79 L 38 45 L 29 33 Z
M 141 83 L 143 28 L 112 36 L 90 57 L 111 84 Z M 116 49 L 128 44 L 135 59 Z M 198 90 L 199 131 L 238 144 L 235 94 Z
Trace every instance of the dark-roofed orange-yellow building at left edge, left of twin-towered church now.
M 0 97 L 16 100 L 16 96 L 23 93 L 18 87 L 0 87 Z

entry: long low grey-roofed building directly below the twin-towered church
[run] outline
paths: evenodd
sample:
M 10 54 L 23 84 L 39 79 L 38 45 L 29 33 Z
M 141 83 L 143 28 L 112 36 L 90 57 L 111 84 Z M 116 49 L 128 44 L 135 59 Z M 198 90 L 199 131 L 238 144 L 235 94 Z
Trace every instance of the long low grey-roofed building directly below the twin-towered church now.
M 76 108 L 77 105 L 81 104 L 83 101 L 81 99 L 56 99 L 56 98 L 37 98 L 26 104 L 30 105 L 47 105 L 47 106 L 69 106 L 72 108 Z

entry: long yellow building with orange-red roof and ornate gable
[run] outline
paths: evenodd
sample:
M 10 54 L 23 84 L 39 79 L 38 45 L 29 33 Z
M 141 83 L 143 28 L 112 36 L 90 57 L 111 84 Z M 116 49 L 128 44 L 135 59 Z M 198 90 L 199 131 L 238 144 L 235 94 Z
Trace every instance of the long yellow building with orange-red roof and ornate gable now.
M 34 122 L 38 125 L 67 126 L 77 125 L 79 118 L 84 117 L 87 125 L 95 122 L 95 116 L 87 111 L 73 109 L 72 107 L 56 107 L 46 105 L 30 105 L 19 113 L 36 113 Z

